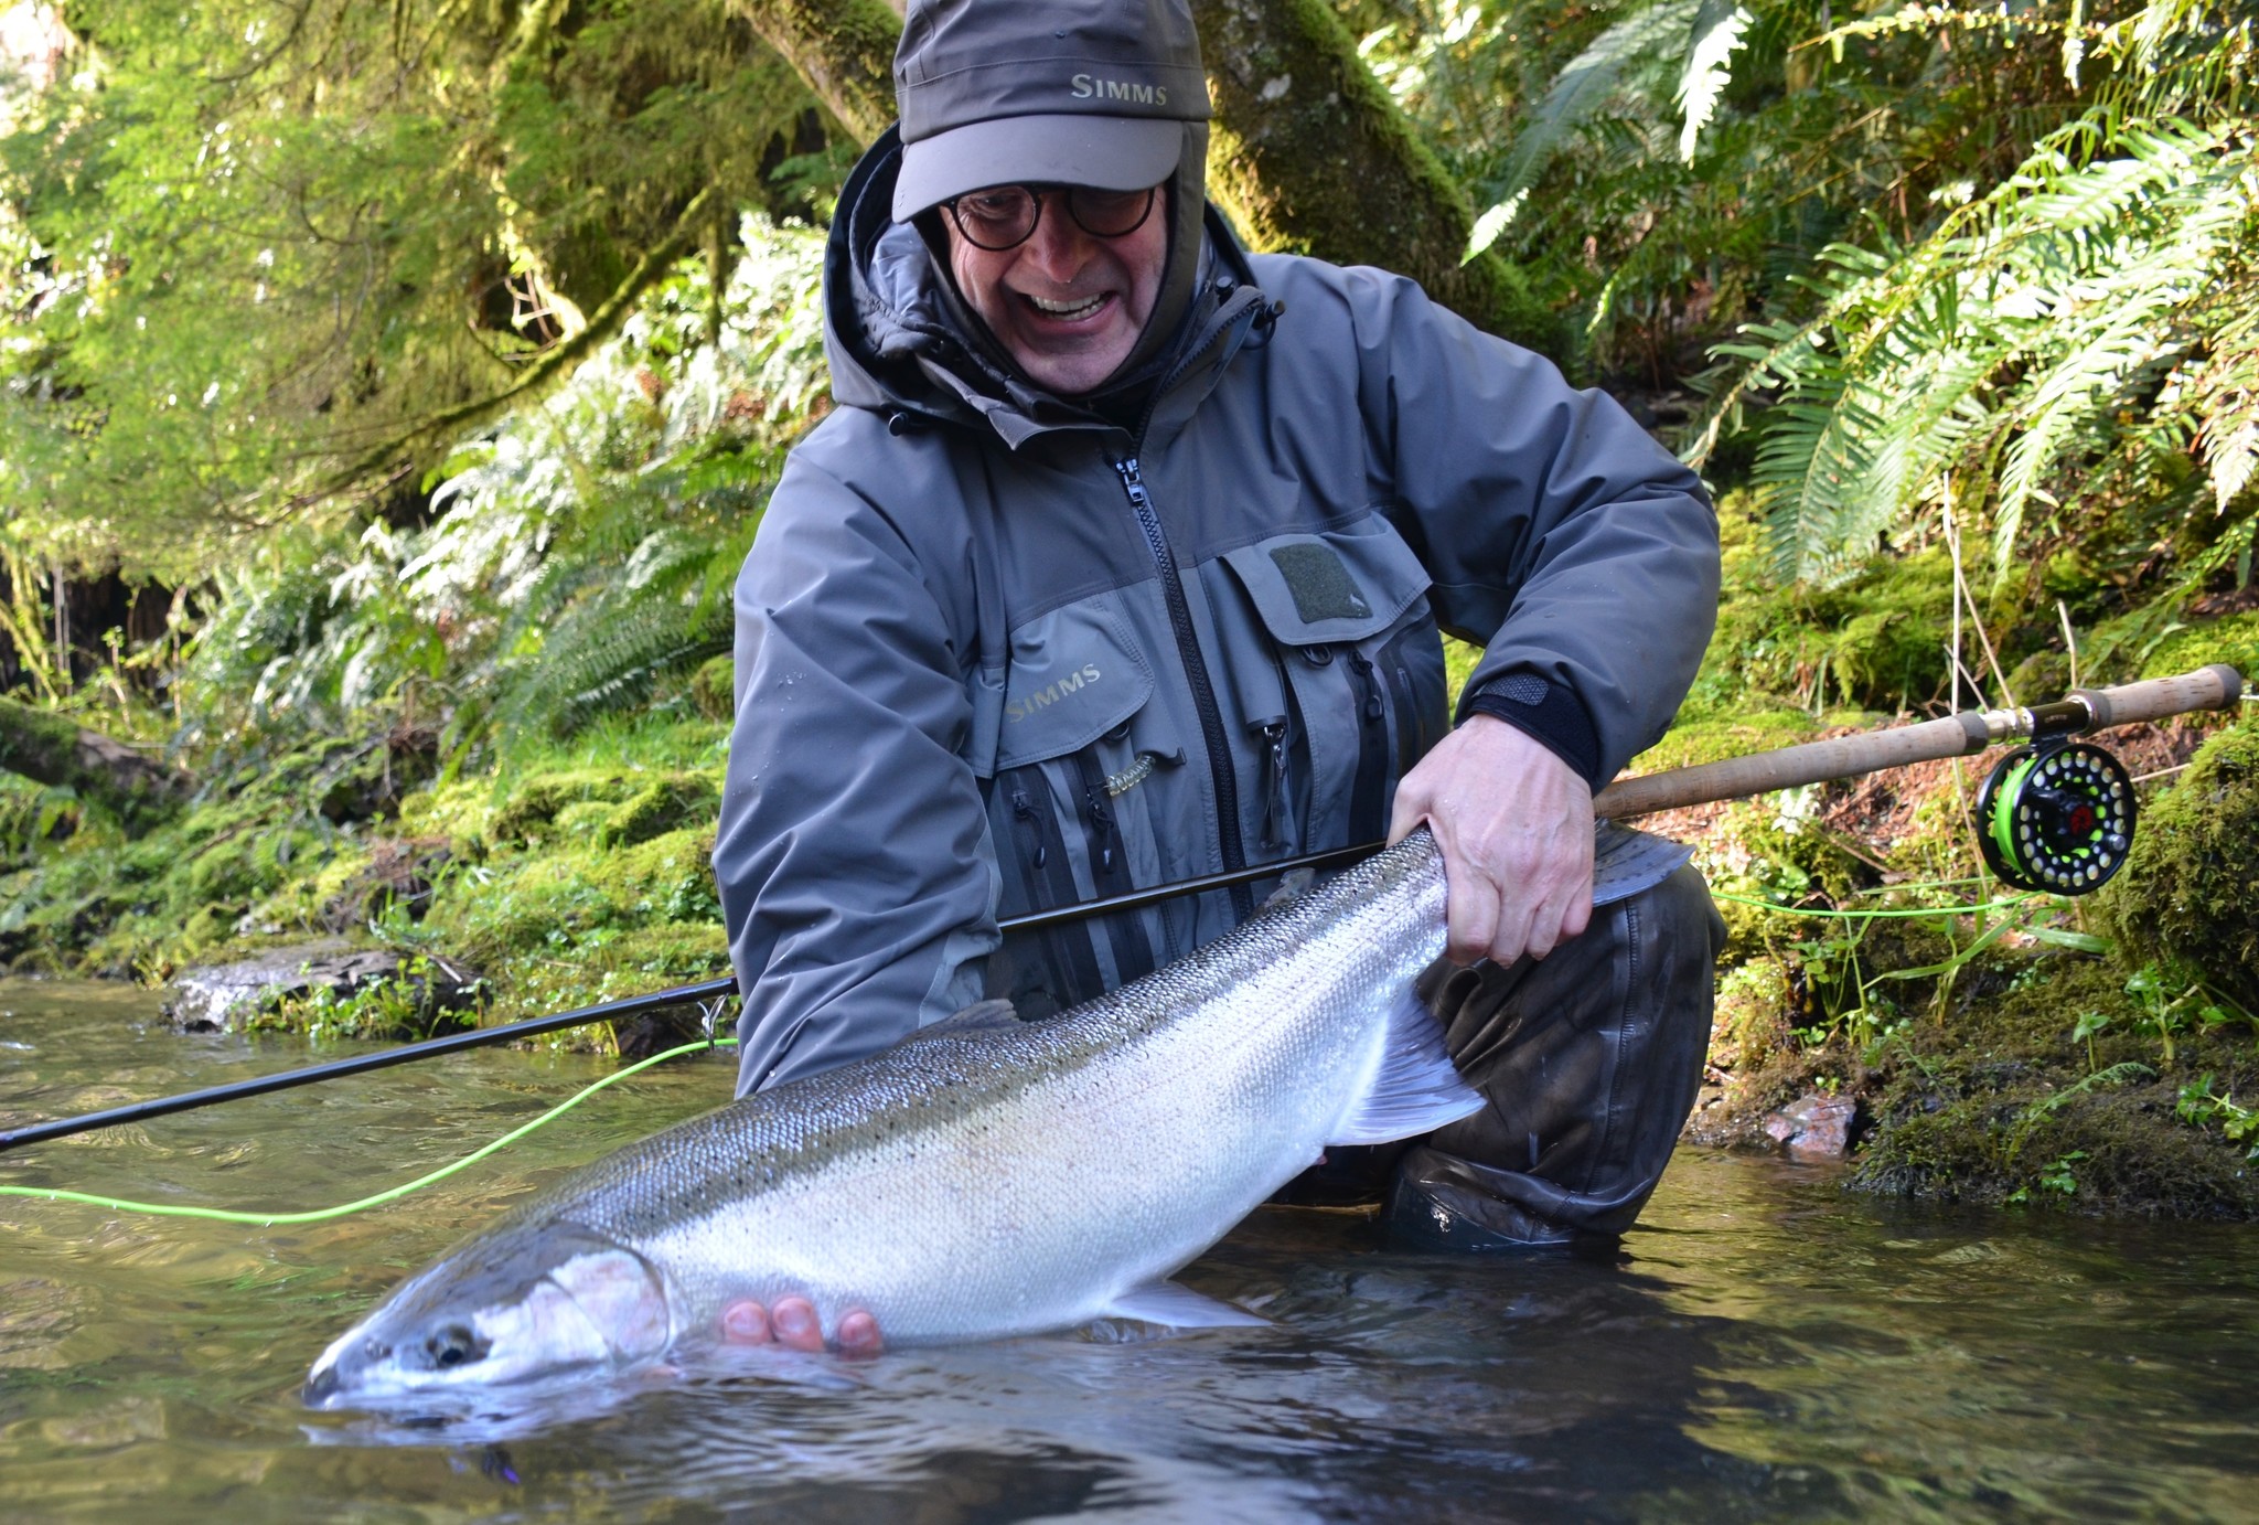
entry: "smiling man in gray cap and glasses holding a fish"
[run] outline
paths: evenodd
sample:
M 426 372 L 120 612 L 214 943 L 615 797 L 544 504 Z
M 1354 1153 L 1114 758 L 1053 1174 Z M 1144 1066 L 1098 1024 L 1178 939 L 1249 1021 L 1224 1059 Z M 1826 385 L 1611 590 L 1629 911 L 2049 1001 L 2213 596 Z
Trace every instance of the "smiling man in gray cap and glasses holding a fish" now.
M 1272 886 L 998 917 L 1425 822 L 1471 965 L 1430 996 L 1493 1105 L 1358 1166 L 1398 1243 L 1620 1234 L 1719 933 L 1690 870 L 1595 915 L 1590 795 L 1708 642 L 1699 481 L 1407 280 L 1245 255 L 1184 0 L 913 0 L 897 99 L 831 230 L 840 409 L 736 590 L 741 1089 L 980 999 L 1041 1019 Z M 1439 624 L 1486 646 L 1457 727 Z M 800 1299 L 734 1317 L 820 1340 Z

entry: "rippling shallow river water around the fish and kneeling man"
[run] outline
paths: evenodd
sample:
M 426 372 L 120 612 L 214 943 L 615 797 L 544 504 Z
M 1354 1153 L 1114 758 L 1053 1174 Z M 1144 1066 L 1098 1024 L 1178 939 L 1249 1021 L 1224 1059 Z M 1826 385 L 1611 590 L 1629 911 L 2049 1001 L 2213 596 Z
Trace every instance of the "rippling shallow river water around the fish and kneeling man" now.
M 165 1032 L 147 992 L 0 983 L 0 1125 L 305 1060 Z M 465 1055 L 0 1154 L 0 1182 L 323 1206 L 603 1071 Z M 0 1514 L 2259 1518 L 2259 1227 L 1920 1209 L 1692 1150 L 1608 1261 L 1403 1256 L 1362 1220 L 1265 1209 L 1184 1276 L 1263 1331 L 764 1353 L 434 1430 L 298 1408 L 398 1276 L 732 1075 L 662 1066 L 328 1225 L 0 1197 Z

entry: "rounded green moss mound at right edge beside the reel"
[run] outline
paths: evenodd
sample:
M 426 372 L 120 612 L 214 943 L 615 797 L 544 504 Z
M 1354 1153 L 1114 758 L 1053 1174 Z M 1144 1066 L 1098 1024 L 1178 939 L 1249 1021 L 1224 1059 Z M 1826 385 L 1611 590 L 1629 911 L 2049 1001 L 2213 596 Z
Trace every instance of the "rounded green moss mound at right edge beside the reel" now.
M 2259 1012 L 2259 721 L 2218 732 L 2157 795 L 2103 913 L 2135 962 L 2191 969 Z

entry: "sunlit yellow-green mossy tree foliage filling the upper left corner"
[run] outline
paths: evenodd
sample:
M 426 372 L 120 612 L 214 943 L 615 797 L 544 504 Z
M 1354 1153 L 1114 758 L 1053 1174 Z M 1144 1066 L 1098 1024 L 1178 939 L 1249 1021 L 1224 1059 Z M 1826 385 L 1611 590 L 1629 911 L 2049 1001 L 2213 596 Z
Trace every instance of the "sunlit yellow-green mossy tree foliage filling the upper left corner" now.
M 413 504 L 450 432 L 820 147 L 718 0 L 61 16 L 0 140 L 0 515 L 84 560 Z

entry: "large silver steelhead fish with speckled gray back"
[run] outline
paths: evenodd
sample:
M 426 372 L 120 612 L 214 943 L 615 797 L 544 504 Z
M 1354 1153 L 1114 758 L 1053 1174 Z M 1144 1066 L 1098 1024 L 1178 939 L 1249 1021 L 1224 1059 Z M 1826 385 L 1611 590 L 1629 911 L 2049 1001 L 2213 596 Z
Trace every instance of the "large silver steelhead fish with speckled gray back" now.
M 1100 1317 L 1261 1324 L 1166 1281 L 1328 1143 L 1477 1107 L 1412 994 L 1444 951 L 1425 831 L 1050 1021 L 937 1023 L 562 1182 L 402 1283 L 314 1408 L 626 1369 L 804 1295 L 890 1347 Z

